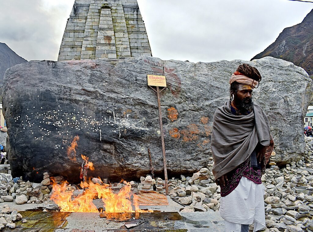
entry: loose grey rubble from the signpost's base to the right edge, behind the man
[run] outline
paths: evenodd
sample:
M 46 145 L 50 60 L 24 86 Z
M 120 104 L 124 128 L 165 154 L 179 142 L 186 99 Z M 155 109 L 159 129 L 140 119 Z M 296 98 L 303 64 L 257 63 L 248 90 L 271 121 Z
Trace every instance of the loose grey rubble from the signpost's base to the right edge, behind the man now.
M 275 155 L 273 152 L 271 166 L 262 177 L 268 228 L 264 231 L 313 231 L 313 138 L 306 138 L 306 152 L 298 162 L 279 168 Z M 191 177 L 181 175 L 169 180 L 169 195 L 185 205 L 182 212 L 219 209 L 220 188 L 214 183 L 212 168 L 210 158 L 208 167 Z M 156 179 L 155 186 L 159 184 L 160 190 L 164 190 L 164 181 L 160 180 Z M 146 184 L 144 181 L 146 178 L 142 177 L 139 186 Z

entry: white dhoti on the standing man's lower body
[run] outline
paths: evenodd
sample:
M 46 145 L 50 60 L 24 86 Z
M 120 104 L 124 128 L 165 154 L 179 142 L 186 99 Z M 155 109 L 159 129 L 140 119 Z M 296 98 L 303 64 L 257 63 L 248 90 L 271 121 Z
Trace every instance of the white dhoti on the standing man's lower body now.
M 240 232 L 240 224 L 254 224 L 254 230 L 265 227 L 264 185 L 242 177 L 230 194 L 220 199 L 219 213 L 225 219 L 226 232 Z

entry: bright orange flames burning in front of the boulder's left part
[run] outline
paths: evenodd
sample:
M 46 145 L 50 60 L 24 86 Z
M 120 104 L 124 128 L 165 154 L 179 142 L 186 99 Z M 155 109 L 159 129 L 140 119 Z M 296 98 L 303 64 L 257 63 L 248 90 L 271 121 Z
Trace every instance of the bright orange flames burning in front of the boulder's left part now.
M 77 139 L 76 139 L 77 137 Z M 69 148 L 73 148 L 71 153 L 76 154 L 78 136 L 74 138 L 72 145 Z M 70 150 L 70 149 L 68 149 Z M 68 153 L 69 154 L 69 153 Z M 94 170 L 92 162 L 88 161 L 88 157 L 81 155 L 85 165 L 90 170 Z M 100 178 L 99 178 L 100 179 Z M 52 195 L 50 197 L 61 208 L 62 212 L 89 212 L 99 213 L 99 210 L 93 204 L 93 199 L 102 199 L 105 213 L 134 213 L 134 212 L 153 212 L 153 210 L 141 210 L 139 209 L 136 199 L 133 203 L 135 210 L 131 205 L 131 184 L 123 182 L 125 185 L 118 193 L 114 193 L 110 189 L 109 184 L 94 184 L 92 181 L 87 180 L 80 183 L 80 187 L 84 189 L 83 193 L 74 196 L 68 186 L 68 182 L 65 181 L 61 185 L 53 183 Z

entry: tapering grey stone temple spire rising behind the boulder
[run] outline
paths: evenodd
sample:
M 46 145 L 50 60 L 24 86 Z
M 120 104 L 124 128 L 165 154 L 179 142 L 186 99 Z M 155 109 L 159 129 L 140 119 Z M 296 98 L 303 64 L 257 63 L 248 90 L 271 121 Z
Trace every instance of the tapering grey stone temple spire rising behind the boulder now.
M 152 56 L 137 0 L 75 0 L 58 61 Z

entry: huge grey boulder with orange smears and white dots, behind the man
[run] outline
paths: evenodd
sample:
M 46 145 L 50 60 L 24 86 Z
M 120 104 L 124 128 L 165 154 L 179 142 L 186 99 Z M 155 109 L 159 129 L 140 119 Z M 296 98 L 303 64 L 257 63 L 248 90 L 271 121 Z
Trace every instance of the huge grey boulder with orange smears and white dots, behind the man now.
M 190 63 L 147 56 L 31 61 L 8 69 L 4 77 L 13 174 L 41 181 L 48 171 L 78 181 L 84 154 L 95 166 L 90 176 L 130 180 L 150 172 L 150 148 L 155 173 L 162 176 L 156 93 L 147 86 L 147 74 L 167 77 L 161 105 L 169 176 L 196 172 L 212 155 L 213 114 L 229 100 L 229 78 L 241 63 L 255 66 L 263 77 L 254 101 L 269 117 L 275 162 L 298 160 L 305 149 L 303 118 L 313 85 L 290 62 L 266 57 Z M 76 135 L 76 154 L 67 154 Z

